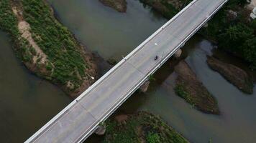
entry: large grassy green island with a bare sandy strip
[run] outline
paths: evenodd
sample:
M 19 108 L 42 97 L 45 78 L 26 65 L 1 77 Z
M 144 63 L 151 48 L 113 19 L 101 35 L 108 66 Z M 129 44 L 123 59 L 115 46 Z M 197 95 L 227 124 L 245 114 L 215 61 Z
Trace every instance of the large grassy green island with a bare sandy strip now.
M 55 19 L 45 1 L 3 0 L 0 9 L 0 28 L 12 36 L 17 56 L 32 73 L 71 97 L 95 82 L 93 55 Z

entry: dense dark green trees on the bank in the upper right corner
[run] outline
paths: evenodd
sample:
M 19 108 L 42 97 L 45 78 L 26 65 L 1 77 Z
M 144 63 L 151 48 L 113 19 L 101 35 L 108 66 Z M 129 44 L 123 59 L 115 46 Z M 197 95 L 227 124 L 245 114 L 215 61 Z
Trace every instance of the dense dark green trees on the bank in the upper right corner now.
M 200 31 L 211 37 L 221 49 L 239 56 L 256 68 L 256 20 L 249 20 L 249 14 L 244 8 L 246 0 L 229 0 L 213 19 L 209 26 Z M 228 11 L 236 11 L 237 17 L 230 19 Z

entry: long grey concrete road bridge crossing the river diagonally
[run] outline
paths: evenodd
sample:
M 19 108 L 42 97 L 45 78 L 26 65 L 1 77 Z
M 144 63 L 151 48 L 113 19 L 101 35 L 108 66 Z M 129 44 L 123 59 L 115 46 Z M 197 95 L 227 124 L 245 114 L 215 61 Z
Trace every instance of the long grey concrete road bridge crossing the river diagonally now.
M 226 2 L 193 0 L 26 142 L 83 142 Z

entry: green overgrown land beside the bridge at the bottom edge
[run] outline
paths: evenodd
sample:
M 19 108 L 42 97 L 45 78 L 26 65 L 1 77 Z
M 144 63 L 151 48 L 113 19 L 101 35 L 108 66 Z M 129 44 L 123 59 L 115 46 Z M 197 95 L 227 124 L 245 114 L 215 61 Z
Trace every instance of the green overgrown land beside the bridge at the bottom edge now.
M 168 127 L 159 117 L 147 112 L 129 115 L 127 119 L 118 122 L 115 119 L 106 121 L 106 143 L 160 143 L 188 142 L 174 129 Z

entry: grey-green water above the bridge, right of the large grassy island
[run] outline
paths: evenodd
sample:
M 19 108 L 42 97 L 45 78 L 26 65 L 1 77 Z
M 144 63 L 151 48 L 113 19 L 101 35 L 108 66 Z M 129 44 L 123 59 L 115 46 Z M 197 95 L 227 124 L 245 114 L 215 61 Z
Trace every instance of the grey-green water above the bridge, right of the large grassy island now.
M 126 13 L 116 12 L 97 0 L 48 1 L 60 21 L 104 59 L 126 56 L 167 21 L 134 0 L 127 1 Z

